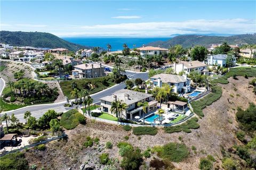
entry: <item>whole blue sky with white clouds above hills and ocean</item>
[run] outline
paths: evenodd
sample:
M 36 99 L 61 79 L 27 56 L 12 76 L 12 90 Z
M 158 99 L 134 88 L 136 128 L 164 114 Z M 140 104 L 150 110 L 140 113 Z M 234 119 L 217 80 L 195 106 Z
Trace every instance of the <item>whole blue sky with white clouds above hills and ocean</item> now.
M 59 37 L 256 32 L 256 1 L 0 1 L 0 29 Z

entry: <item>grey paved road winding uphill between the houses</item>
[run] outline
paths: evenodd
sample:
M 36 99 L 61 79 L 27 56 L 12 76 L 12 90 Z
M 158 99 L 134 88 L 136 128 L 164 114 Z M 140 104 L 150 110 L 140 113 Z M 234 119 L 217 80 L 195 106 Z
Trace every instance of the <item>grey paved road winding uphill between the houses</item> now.
M 136 78 L 141 78 L 142 80 L 147 80 L 148 79 L 148 72 L 145 72 L 145 73 L 134 73 L 134 72 L 126 71 L 126 74 L 129 77 L 131 77 L 132 79 L 136 79 Z M 0 79 L 0 92 L 1 92 L 1 90 L 3 88 L 4 88 L 3 87 L 3 80 Z M 120 84 L 115 85 L 114 87 L 111 87 L 109 89 L 100 91 L 97 94 L 93 94 L 93 95 L 91 95 L 91 97 L 93 98 L 94 103 L 99 103 L 99 101 L 100 101 L 99 99 L 101 97 L 111 95 L 115 91 L 121 90 L 121 89 L 124 89 L 124 88 L 125 88 L 125 83 L 120 83 Z M 33 116 L 35 116 L 36 118 L 39 118 L 46 111 L 48 111 L 49 109 L 54 109 L 56 112 L 65 112 L 65 111 L 68 111 L 69 109 L 71 109 L 71 108 L 65 108 L 63 106 L 63 104 L 65 104 L 65 103 L 66 102 L 63 101 L 63 102 L 57 103 L 57 104 L 33 105 L 33 106 L 23 107 L 23 108 L 14 110 L 14 111 L 4 112 L 4 113 L 7 113 L 7 115 L 10 115 L 10 116 L 11 116 L 12 113 L 14 113 L 15 116 L 17 118 L 19 118 L 20 122 L 25 122 L 25 119 L 23 118 L 23 114 L 26 111 L 31 112 L 31 114 Z M 3 113 L 1 113 L 1 114 L 3 114 Z M 5 124 L 4 122 L 2 122 L 2 123 Z

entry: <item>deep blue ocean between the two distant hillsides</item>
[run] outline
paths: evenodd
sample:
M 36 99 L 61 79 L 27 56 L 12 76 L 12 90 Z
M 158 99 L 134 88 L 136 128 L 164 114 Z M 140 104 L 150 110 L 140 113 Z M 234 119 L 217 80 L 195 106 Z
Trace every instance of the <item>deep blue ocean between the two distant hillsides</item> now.
M 123 44 L 127 44 L 129 48 L 141 47 L 143 44 L 146 45 L 148 43 L 154 41 L 166 41 L 169 40 L 170 37 L 150 37 L 150 38 L 131 38 L 131 37 L 76 37 L 76 38 L 62 38 L 71 43 L 84 45 L 84 46 L 92 46 L 92 47 L 101 47 L 103 49 L 107 49 L 107 44 L 111 45 L 111 51 L 122 50 Z

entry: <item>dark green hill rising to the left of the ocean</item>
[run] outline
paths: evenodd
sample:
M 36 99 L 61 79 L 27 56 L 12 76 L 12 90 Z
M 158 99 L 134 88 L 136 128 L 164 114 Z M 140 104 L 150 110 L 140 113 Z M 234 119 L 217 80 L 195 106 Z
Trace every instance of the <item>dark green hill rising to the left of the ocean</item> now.
M 47 32 L 0 31 L 0 42 L 13 46 L 33 46 L 46 48 L 67 48 L 76 51 L 85 46 L 69 43 Z M 89 47 L 87 47 L 89 48 Z

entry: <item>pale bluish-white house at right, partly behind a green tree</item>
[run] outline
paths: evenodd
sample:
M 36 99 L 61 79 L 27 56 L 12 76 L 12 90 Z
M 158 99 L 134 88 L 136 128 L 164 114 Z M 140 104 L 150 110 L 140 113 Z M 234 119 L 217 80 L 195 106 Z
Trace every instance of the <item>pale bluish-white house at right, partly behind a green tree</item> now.
M 210 66 L 217 65 L 217 66 L 225 67 L 227 57 L 228 57 L 227 54 L 209 55 L 207 57 L 207 64 Z M 236 57 L 233 57 L 233 63 L 236 64 Z

